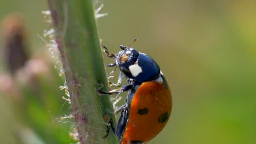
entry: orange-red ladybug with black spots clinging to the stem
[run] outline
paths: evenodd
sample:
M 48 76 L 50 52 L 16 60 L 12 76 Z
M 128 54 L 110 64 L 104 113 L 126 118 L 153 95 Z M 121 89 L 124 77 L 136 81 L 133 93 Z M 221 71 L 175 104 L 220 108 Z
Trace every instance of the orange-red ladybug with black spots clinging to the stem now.
M 111 128 L 121 144 L 152 140 L 165 127 L 172 110 L 171 90 L 159 65 L 153 58 L 130 46 L 120 45 L 121 51 L 115 55 L 102 46 L 107 56 L 115 60 L 107 66 L 120 69 L 118 82 L 110 82 L 110 86 L 121 86 L 123 76 L 127 80 L 121 88 L 109 92 L 98 90 L 100 94 L 109 95 L 128 91 L 126 103 L 117 110 L 121 111 L 117 128 L 110 119 L 106 131 L 108 135 Z

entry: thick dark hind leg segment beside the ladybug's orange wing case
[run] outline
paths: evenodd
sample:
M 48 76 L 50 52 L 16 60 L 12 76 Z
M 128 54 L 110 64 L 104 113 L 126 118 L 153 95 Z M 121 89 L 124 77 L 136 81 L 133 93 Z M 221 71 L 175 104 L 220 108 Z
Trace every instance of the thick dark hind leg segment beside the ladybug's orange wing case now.
M 121 111 L 120 118 L 118 120 L 117 129 L 115 130 L 115 135 L 120 136 L 126 127 L 128 119 L 128 107 L 127 105 L 124 106 L 123 110 Z

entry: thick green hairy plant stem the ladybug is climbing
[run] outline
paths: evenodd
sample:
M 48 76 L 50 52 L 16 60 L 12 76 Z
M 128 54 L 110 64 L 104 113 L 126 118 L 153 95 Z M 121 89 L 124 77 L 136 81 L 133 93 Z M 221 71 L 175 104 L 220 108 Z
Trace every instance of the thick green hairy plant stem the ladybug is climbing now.
M 107 95 L 98 95 L 103 86 L 108 91 L 106 72 L 97 33 L 94 3 L 91 0 L 48 0 L 66 85 L 70 94 L 80 143 L 117 143 L 106 122 L 113 120 L 113 106 Z

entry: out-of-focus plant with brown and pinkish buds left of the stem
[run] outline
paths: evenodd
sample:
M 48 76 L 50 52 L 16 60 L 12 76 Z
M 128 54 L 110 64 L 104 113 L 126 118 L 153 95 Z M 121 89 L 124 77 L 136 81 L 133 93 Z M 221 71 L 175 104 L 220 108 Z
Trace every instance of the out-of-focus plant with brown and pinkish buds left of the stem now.
M 8 72 L 0 75 L 0 99 L 8 110 L 13 143 L 70 143 L 71 125 L 61 122 L 69 115 L 69 105 L 61 98 L 63 80 L 54 68 L 48 52 L 28 57 L 26 30 L 22 17 L 11 14 L 3 20 L 5 65 Z M 1 140 L 11 143 L 11 140 Z

